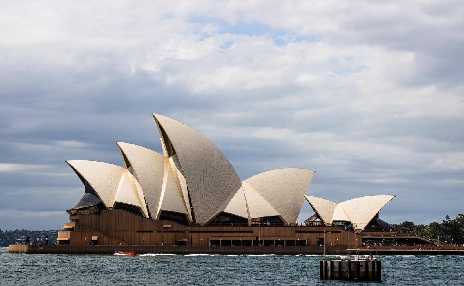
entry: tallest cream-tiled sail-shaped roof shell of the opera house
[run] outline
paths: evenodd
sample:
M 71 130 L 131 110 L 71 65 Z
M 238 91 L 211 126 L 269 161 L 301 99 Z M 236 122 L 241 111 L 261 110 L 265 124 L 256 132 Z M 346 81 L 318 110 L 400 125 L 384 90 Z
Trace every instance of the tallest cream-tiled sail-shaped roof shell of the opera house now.
M 240 179 L 226 156 L 205 136 L 172 118 L 153 116 L 164 140 L 163 148 L 169 153 L 172 144 L 179 159 L 196 223 L 205 224 L 226 208 L 241 187 Z

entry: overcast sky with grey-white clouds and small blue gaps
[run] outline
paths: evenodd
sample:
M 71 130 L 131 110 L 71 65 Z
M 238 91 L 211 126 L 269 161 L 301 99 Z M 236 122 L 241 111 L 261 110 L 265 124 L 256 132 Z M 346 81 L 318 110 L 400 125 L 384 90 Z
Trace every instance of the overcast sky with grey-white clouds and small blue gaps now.
M 390 223 L 464 213 L 462 1 L 98 2 L 2 2 L 0 228 L 68 221 L 65 160 L 161 152 L 152 112 L 242 180 L 308 168 L 309 195 L 396 195 Z

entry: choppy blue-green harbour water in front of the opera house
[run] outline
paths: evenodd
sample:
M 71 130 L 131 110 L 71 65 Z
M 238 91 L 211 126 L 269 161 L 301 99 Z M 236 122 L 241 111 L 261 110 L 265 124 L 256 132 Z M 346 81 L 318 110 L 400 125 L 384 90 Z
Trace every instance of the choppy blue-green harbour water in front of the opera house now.
M 0 249 L 0 285 L 345 285 L 321 255 L 21 254 Z M 369 285 L 464 285 L 464 256 L 386 255 Z

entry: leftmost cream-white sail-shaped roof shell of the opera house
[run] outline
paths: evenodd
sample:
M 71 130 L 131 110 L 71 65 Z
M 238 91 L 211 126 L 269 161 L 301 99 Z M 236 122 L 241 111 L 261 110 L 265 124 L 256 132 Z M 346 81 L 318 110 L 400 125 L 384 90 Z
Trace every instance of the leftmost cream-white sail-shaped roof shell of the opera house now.
M 148 216 L 145 200 L 142 201 L 135 179 L 126 168 L 86 160 L 71 160 L 66 163 L 90 184 L 105 207 L 113 208 L 116 202 L 127 203 L 139 207 L 142 214 Z

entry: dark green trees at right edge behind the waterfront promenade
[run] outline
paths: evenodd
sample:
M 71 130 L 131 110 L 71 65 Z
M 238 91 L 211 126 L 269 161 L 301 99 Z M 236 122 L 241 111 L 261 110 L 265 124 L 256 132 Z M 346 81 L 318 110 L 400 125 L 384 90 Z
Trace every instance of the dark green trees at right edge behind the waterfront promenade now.
M 412 221 L 392 224 L 397 232 L 414 232 L 425 235 L 431 239 L 448 241 L 449 244 L 464 243 L 464 215 L 458 214 L 454 220 L 446 215 L 442 223 L 432 222 L 429 225 L 414 225 Z

